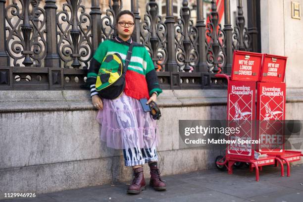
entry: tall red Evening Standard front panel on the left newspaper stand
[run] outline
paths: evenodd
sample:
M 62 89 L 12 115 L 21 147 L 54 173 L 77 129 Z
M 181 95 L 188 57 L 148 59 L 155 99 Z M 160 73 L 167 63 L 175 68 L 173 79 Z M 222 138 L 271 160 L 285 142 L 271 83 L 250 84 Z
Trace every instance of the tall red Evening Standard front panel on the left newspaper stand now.
M 230 81 L 228 86 L 229 127 L 240 128 L 240 133 L 232 134 L 229 140 L 254 140 L 255 85 L 253 81 Z M 253 159 L 253 145 L 239 144 L 238 141 L 227 147 L 229 157 Z

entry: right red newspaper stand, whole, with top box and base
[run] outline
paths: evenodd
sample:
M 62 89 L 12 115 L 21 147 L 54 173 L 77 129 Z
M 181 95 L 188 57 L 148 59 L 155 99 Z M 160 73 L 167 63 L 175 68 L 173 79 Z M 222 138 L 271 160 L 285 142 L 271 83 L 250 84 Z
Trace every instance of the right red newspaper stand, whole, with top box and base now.
M 285 134 L 285 101 L 286 85 L 284 83 L 286 59 L 284 56 L 263 55 L 260 79 L 257 82 L 257 138 L 260 140 L 258 152 L 275 156 L 281 165 L 287 165 L 287 176 L 290 176 L 289 162 L 301 160 L 301 152 L 284 149 Z

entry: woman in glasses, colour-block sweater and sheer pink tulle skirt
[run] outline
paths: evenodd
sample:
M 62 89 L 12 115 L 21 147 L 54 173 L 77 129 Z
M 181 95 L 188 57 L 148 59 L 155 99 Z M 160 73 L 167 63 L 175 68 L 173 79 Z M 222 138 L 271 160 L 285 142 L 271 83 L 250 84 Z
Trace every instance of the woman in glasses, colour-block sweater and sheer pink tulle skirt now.
M 149 163 L 150 186 L 155 190 L 166 190 L 157 167 L 156 146 L 159 142 L 155 120 L 150 112 L 144 112 L 140 99 L 147 103 L 156 101 L 162 93 L 152 59 L 146 48 L 135 43 L 131 35 L 134 31 L 135 16 L 129 10 L 120 11 L 116 18 L 116 37 L 103 41 L 91 60 L 87 83 L 91 88 L 94 106 L 99 109 L 97 120 L 101 124 L 100 138 L 107 147 L 123 149 L 125 166 L 132 166 L 134 179 L 127 193 L 139 194 L 146 189 L 143 165 Z M 97 74 L 107 54 L 117 52 L 125 62 L 127 50 L 133 44 L 132 56 L 125 75 L 125 89 L 120 97 L 108 100 L 100 97 L 95 84 Z

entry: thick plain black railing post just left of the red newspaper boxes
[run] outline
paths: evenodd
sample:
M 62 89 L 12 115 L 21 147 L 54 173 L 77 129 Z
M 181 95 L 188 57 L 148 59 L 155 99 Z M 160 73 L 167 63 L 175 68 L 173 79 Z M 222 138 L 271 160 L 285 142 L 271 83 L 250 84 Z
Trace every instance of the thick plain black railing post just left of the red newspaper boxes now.
M 232 27 L 230 20 L 230 0 L 224 0 L 224 32 L 225 32 L 225 52 L 226 52 L 226 65 L 223 69 L 224 73 L 231 73 L 231 66 L 233 61 L 233 45 L 232 45 Z

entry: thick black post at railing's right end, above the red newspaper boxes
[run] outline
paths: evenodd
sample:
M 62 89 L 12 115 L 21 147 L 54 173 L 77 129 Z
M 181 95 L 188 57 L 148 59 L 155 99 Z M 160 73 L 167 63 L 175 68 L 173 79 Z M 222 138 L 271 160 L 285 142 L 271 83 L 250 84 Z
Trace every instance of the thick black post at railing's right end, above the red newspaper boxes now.
M 251 36 L 252 42 L 250 48 L 253 52 L 258 51 L 258 30 L 256 15 L 256 0 L 247 0 L 247 23 L 248 34 Z

